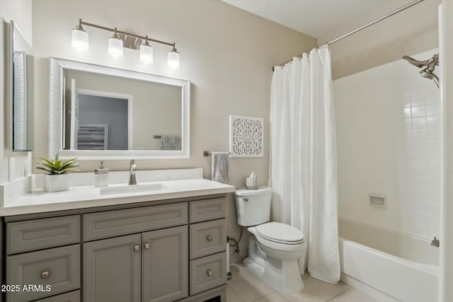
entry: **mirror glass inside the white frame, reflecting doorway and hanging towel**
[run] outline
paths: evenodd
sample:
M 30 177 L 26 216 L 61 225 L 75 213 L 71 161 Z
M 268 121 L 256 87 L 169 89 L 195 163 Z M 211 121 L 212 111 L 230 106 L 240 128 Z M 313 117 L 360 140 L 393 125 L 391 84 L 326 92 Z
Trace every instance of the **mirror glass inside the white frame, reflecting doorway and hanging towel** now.
M 180 141 L 181 87 L 68 69 L 63 79 L 65 150 L 162 150 L 156 137 Z

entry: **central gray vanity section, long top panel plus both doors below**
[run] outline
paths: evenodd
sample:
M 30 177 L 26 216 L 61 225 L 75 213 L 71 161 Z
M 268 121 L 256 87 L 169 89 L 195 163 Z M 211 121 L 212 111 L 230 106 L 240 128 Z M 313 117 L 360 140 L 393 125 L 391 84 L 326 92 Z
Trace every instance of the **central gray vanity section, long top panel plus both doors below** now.
M 187 202 L 85 214 L 84 301 L 187 297 L 187 223 Z

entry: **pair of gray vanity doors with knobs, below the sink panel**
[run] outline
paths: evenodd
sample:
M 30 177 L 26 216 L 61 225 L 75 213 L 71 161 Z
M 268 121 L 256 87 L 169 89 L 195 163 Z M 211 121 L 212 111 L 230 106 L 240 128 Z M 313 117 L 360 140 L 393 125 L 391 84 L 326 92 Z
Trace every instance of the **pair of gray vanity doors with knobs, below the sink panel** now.
M 176 301 L 188 296 L 187 226 L 84 244 L 84 301 Z

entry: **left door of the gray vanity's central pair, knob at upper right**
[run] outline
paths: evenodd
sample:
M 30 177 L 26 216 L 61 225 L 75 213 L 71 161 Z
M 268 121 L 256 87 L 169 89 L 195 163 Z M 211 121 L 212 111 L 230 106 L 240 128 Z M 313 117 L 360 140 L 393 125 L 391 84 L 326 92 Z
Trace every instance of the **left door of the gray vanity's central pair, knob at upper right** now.
M 140 234 L 84 243 L 84 302 L 140 301 Z

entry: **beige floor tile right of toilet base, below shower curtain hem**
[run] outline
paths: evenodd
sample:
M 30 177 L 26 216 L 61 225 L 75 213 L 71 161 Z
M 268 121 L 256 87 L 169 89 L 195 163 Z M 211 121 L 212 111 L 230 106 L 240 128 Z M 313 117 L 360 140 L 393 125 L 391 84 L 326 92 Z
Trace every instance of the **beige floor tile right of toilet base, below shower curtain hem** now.
M 308 277 L 304 279 L 305 287 L 302 291 L 295 294 L 283 295 L 290 302 L 301 302 L 301 301 L 328 301 L 334 296 L 338 296 L 347 289 L 350 289 L 348 284 L 339 282 L 338 284 L 330 284 L 317 279 Z

